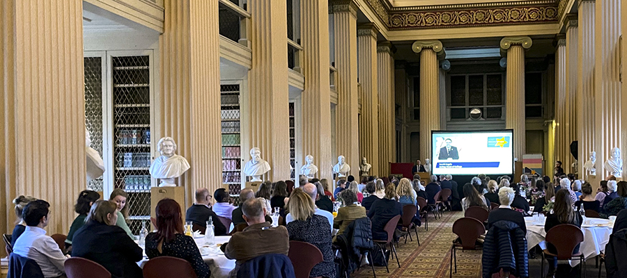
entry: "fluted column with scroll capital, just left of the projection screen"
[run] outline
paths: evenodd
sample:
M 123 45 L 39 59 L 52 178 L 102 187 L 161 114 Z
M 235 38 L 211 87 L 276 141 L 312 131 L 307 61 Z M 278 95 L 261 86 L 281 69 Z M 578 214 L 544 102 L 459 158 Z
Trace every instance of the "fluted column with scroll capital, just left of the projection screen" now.
M 440 130 L 439 40 L 418 40 L 412 51 L 420 54 L 420 158 L 431 158 L 431 131 Z M 434 165 L 435 166 L 435 165 Z

